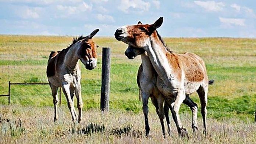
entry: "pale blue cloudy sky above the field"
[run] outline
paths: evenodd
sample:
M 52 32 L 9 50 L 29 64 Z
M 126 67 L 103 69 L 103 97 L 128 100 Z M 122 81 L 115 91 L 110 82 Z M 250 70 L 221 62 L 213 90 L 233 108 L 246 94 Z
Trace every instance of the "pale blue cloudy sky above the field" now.
M 0 0 L 0 34 L 113 36 L 164 17 L 164 37 L 256 37 L 255 0 Z

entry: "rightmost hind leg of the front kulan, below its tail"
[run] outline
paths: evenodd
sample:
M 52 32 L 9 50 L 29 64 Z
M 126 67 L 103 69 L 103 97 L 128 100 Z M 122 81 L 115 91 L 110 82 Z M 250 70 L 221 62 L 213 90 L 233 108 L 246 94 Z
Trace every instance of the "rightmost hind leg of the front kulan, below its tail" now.
M 207 116 L 207 93 L 208 93 L 208 86 L 200 86 L 199 89 L 197 90 L 197 93 L 200 98 L 200 103 L 201 103 L 201 114 L 203 117 L 203 133 L 206 135 L 207 134 L 207 127 L 206 127 L 206 116 Z

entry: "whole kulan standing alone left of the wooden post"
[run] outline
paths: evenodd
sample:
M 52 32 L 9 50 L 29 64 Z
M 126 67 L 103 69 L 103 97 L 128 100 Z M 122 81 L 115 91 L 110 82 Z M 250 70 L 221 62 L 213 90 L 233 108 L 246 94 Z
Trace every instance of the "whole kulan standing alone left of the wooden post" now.
M 68 108 L 72 120 L 78 122 L 82 117 L 82 95 L 81 95 L 81 70 L 78 60 L 85 65 L 86 69 L 92 70 L 97 65 L 96 44 L 92 37 L 99 32 L 94 30 L 88 36 L 74 38 L 73 42 L 67 48 L 60 52 L 51 52 L 47 65 L 47 78 L 51 87 L 54 104 L 54 122 L 58 119 L 58 88 L 62 87 L 63 93 L 67 99 Z M 74 96 L 77 97 L 78 118 L 74 108 Z

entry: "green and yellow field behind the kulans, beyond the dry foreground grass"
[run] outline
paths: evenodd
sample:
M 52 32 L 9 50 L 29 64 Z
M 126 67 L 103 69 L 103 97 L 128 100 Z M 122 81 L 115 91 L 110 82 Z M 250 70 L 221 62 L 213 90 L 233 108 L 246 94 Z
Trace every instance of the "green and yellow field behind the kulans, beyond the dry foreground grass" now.
M 209 79 L 215 80 L 214 85 L 209 87 L 207 105 L 209 118 L 253 120 L 256 102 L 256 39 L 164 38 L 164 40 L 167 46 L 177 53 L 189 51 L 205 60 Z M 114 38 L 96 37 L 94 41 L 100 46 L 97 50 L 99 54 L 97 69 L 88 71 L 81 65 L 83 110 L 99 109 L 101 47 L 111 47 L 110 109 L 142 114 L 142 104 L 138 100 L 139 91 L 136 84 L 136 75 L 141 64 L 140 57 L 128 60 L 124 55 L 127 45 Z M 9 80 L 47 82 L 46 66 L 50 51 L 62 50 L 71 42 L 72 37 L 67 36 L 1 35 L 0 94 L 7 94 Z M 67 108 L 65 97 L 62 96 L 63 108 Z M 196 94 L 191 97 L 199 104 Z M 8 98 L 0 97 L 0 104 L 7 105 Z M 11 104 L 53 107 L 50 87 L 48 85 L 12 86 Z M 154 114 L 151 102 L 149 105 L 150 112 Z M 181 112 L 190 114 L 190 109 L 182 105 Z

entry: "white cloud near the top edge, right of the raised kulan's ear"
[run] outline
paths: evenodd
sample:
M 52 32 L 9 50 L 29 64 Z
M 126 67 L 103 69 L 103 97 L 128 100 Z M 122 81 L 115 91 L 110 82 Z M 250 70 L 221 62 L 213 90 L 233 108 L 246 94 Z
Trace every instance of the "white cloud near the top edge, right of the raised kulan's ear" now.
M 223 2 L 215 1 L 194 1 L 200 7 L 205 8 L 207 11 L 222 11 L 225 4 Z

